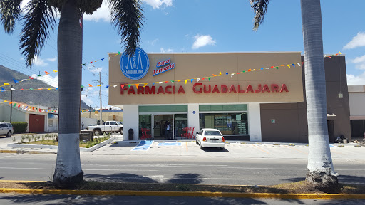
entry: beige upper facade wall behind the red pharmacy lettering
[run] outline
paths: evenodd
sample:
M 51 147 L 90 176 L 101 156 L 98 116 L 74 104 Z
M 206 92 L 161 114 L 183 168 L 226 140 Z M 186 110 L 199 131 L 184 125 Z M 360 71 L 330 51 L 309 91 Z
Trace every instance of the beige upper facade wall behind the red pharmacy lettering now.
M 113 56 L 113 54 L 110 54 Z M 302 69 L 297 65 L 301 62 L 300 52 L 283 52 L 283 53 L 150 53 L 150 68 L 148 74 L 140 80 L 130 80 L 123 75 L 120 70 L 120 55 L 110 58 L 109 61 L 109 105 L 153 105 L 153 104 L 187 104 L 187 103 L 245 103 L 245 102 L 303 102 L 303 85 L 302 85 Z M 168 70 L 165 73 L 153 76 L 153 70 L 156 68 L 158 61 L 164 61 L 168 58 L 171 63 L 175 63 L 173 70 Z M 295 63 L 296 66 L 288 68 L 287 65 Z M 279 69 L 270 68 L 269 70 L 260 68 L 267 68 L 271 66 L 279 66 Z M 251 72 L 235 74 L 231 77 L 231 73 L 240 73 L 243 70 L 252 69 Z M 254 71 L 257 69 L 257 71 Z M 208 81 L 207 77 L 219 75 L 223 76 L 211 78 Z M 225 75 L 225 73 L 229 75 Z M 202 78 L 205 80 L 202 80 Z M 213 90 L 214 85 L 220 93 L 195 93 L 193 92 L 193 85 L 197 83 L 195 79 L 190 83 L 191 78 L 200 78 L 202 85 L 199 85 L 195 90 L 200 90 L 206 86 L 211 85 Z M 187 80 L 185 84 L 184 80 Z M 170 81 L 174 80 L 174 83 Z M 181 82 L 176 82 L 182 80 Z M 155 82 L 168 83 L 155 83 Z M 123 95 L 120 92 L 120 85 L 123 83 L 133 84 L 128 89 L 133 89 L 133 93 L 128 94 L 128 89 L 123 90 Z M 152 83 L 155 83 L 156 94 L 137 94 L 137 88 L 134 84 L 148 83 L 147 86 L 151 88 Z M 279 91 L 282 85 L 285 84 L 289 92 L 264 92 L 255 93 L 259 84 L 268 85 L 269 90 L 272 90 L 272 85 L 278 85 Z M 222 85 L 226 85 L 228 91 L 233 85 L 233 90 L 229 93 L 221 93 Z M 247 90 L 248 85 L 252 85 L 254 93 L 238 93 L 238 85 L 240 90 Z M 165 91 L 167 86 L 168 91 L 173 92 L 175 86 L 175 94 L 157 94 L 159 87 Z M 185 93 L 179 93 L 180 86 L 183 87 Z M 128 86 L 127 86 L 128 87 Z M 141 90 L 142 88 L 140 88 Z M 145 89 L 143 88 L 145 91 Z M 211 92 L 212 92 L 211 90 Z

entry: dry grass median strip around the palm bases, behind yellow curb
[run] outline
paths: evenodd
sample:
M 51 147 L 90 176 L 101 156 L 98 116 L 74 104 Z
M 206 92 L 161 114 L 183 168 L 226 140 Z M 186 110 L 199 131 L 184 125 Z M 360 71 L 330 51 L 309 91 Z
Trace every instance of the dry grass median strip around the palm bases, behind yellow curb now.
M 1 182 L 1 188 L 16 189 L 59 189 L 51 182 Z M 274 193 L 274 194 L 325 194 L 308 182 L 294 182 L 272 186 L 224 186 L 202 184 L 148 184 L 148 183 L 113 183 L 84 181 L 76 190 L 130 190 L 130 191 L 211 191 L 239 193 Z M 331 194 L 365 194 L 365 185 L 339 184 L 336 193 Z

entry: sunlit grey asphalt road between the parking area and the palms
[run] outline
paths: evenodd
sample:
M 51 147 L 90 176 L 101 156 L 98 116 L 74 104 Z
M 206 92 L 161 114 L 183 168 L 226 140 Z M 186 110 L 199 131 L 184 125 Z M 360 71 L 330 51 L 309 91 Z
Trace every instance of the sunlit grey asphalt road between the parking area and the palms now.
M 0 154 L 0 180 L 50 180 L 56 154 Z M 81 154 L 86 179 L 102 182 L 270 185 L 303 180 L 306 159 Z M 334 161 L 340 183 L 365 184 L 364 160 Z

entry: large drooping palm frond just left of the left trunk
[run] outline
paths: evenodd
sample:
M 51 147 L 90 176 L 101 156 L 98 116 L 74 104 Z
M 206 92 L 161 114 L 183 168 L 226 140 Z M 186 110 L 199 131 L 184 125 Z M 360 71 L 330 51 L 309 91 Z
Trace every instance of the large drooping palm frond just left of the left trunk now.
M 31 0 L 26 4 L 23 17 L 24 27 L 21 29 L 21 54 L 26 56 L 26 66 L 30 67 L 48 38 L 48 28 L 56 25 L 55 14 L 47 0 Z

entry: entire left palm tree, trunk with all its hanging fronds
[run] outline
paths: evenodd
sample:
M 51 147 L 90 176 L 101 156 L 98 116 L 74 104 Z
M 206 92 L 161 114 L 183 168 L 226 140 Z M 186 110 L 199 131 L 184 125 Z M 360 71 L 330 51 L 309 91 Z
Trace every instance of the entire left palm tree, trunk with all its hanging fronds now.
M 6 33 L 14 33 L 17 21 L 23 22 L 20 49 L 31 68 L 41 53 L 49 34 L 56 26 L 56 11 L 61 14 L 58 25 L 58 87 L 59 129 L 58 152 L 53 183 L 73 186 L 83 181 L 79 148 L 79 112 L 81 64 L 83 48 L 83 14 L 92 14 L 103 0 L 31 0 L 24 16 L 22 0 L 0 0 L 0 21 Z M 111 11 L 113 27 L 117 29 L 125 51 L 134 53 L 140 41 L 143 9 L 139 0 L 106 0 Z

